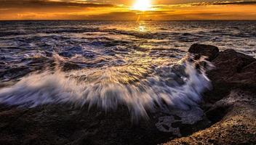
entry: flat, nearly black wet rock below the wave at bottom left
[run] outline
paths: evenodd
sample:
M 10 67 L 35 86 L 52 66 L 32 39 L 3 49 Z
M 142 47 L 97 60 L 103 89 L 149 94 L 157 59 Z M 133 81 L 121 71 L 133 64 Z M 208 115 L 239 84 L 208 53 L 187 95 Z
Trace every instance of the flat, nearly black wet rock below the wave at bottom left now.
M 152 122 L 131 123 L 122 107 L 108 113 L 63 104 L 4 108 L 0 144 L 160 144 L 172 136 Z

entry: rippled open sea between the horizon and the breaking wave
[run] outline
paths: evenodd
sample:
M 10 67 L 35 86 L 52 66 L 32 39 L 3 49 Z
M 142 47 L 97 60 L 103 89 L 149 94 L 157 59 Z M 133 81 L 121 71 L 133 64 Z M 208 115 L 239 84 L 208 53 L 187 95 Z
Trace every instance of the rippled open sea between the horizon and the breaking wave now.
M 94 67 L 143 57 L 180 59 L 193 43 L 255 56 L 256 21 L 0 22 L 0 61 L 6 67 L 27 65 L 52 52 L 79 65 L 98 59 Z

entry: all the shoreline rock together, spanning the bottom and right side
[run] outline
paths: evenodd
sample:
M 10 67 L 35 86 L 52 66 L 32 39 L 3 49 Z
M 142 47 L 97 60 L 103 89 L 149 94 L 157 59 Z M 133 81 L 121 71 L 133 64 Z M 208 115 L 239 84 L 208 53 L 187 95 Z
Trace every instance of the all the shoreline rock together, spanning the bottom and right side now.
M 201 107 L 159 109 L 150 120 L 131 123 L 126 107 L 105 113 L 68 104 L 1 104 L 0 144 L 256 144 L 256 59 L 199 44 L 189 53 L 215 65 Z

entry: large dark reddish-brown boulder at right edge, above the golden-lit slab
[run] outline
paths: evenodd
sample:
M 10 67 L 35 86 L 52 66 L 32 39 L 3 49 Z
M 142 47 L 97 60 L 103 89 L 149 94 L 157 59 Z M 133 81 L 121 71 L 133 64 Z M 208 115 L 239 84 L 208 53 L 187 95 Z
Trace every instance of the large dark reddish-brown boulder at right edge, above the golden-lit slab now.
M 204 99 L 212 103 L 227 96 L 233 88 L 256 89 L 255 61 L 255 58 L 232 49 L 221 51 L 212 60 L 215 68 L 207 72 L 213 89 Z

